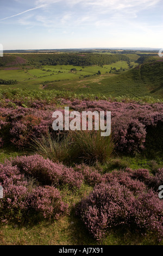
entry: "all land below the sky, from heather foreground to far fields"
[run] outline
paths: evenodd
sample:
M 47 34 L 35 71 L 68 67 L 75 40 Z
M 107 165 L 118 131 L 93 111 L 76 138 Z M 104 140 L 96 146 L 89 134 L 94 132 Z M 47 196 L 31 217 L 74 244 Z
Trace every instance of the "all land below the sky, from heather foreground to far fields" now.
M 162 245 L 159 58 L 102 50 L 4 54 L 1 245 Z M 111 138 L 55 133 L 52 113 L 65 106 L 111 111 Z

